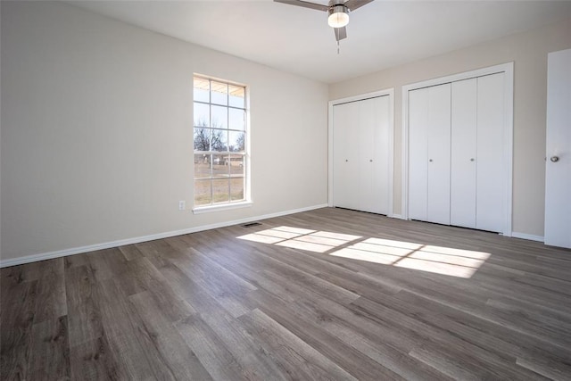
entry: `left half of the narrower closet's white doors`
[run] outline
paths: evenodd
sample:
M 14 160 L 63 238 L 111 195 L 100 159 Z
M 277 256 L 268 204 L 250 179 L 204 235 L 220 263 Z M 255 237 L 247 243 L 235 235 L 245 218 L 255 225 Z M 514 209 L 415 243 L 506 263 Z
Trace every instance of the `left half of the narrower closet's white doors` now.
M 335 206 L 356 209 L 358 200 L 359 105 L 337 104 L 333 107 L 333 202 Z

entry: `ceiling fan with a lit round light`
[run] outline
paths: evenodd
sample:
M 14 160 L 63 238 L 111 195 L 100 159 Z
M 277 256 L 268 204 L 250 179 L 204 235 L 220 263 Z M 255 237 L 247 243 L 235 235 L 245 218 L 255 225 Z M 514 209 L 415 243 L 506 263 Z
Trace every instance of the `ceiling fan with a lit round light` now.
M 337 45 L 343 38 L 347 38 L 346 26 L 349 23 L 349 12 L 353 12 L 373 0 L 329 0 L 328 5 L 310 3 L 302 0 L 274 0 L 276 3 L 302 6 L 327 12 L 327 24 L 335 31 Z

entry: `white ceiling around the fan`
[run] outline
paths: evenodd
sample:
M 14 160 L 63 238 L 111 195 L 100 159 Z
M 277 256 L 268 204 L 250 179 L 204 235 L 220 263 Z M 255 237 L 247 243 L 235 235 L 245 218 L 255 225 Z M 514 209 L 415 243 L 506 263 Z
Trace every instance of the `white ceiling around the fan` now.
M 376 0 L 351 13 L 337 54 L 326 12 L 271 0 L 68 3 L 326 83 L 571 22 L 571 1 Z

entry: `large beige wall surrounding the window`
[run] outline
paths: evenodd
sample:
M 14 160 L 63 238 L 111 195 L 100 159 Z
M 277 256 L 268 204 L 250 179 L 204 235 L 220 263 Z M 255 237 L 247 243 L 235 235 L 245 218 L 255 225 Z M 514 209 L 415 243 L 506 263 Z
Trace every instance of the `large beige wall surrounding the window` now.
M 327 203 L 327 85 L 69 4 L 1 6 L 2 261 Z M 193 72 L 250 87 L 250 208 L 178 211 Z

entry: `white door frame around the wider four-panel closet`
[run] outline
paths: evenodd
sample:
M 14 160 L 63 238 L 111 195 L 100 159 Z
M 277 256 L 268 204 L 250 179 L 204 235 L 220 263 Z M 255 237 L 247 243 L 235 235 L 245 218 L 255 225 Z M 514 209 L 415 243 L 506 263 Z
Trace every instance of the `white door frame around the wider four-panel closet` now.
M 512 186 L 513 186 L 513 115 L 514 115 L 514 62 L 502 63 L 484 69 L 466 71 L 451 76 L 428 79 L 421 82 L 405 85 L 402 88 L 402 147 L 401 147 L 401 216 L 409 219 L 409 92 L 423 87 L 433 87 L 451 83 L 463 79 L 472 79 L 486 75 L 503 72 L 504 75 L 504 126 L 503 126 L 503 162 L 501 165 L 505 169 L 503 179 L 504 195 L 503 202 L 503 236 L 511 236 L 512 218 Z

